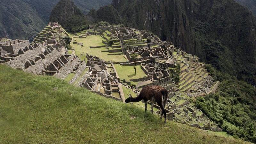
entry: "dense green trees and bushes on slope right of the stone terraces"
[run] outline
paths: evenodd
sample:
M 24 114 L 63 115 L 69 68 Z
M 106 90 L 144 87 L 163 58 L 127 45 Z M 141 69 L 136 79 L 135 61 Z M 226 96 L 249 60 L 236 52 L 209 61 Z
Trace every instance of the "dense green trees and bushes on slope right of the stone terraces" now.
M 236 138 L 256 143 L 256 89 L 236 77 L 206 67 L 220 81 L 219 91 L 197 98 L 196 107 Z

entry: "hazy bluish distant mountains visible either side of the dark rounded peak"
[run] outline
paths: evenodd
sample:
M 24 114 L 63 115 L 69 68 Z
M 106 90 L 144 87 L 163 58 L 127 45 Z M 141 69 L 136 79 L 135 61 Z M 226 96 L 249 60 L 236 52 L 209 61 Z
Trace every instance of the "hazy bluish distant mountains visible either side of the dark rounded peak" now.
M 32 40 L 48 23 L 53 7 L 59 0 L 3 0 L 0 4 L 0 37 Z M 74 0 L 84 13 L 111 0 Z

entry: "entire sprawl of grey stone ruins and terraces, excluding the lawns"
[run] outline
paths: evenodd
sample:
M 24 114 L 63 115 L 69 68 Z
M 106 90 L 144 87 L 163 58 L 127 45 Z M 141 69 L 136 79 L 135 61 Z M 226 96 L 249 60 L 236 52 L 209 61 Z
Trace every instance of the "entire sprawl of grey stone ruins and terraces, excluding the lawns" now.
M 200 63 L 196 56 L 176 48 L 171 42 L 161 41 L 148 31 L 113 26 L 92 28 L 94 31 L 87 31 L 78 37 L 100 35 L 104 38 L 102 43 L 105 44 L 110 37 L 114 44 L 109 53 L 110 51 L 122 52 L 129 61 L 129 63 L 123 63 L 126 65 L 134 65 L 135 62 L 131 60 L 132 54 L 139 55 L 136 63 L 140 64 L 140 68 L 148 76 L 140 79 L 146 83 L 139 87 L 161 85 L 168 90 L 166 107 L 168 119 L 201 129 L 220 131 L 217 124 L 214 124 L 189 102 L 191 97 L 213 92 L 210 88 L 214 82 L 208 76 L 204 64 Z M 110 33 L 103 34 L 105 30 Z M 52 75 L 62 79 L 70 73 L 76 73 L 70 83 L 74 83 L 88 67 L 89 71 L 79 79 L 78 86 L 104 97 L 124 102 L 122 82 L 113 63 L 88 54 L 86 54 L 87 63 L 85 63 L 85 61 L 80 61 L 78 56 L 67 54 L 65 42 L 61 39 L 62 34 L 65 34 L 65 31 L 55 22 L 49 23 L 31 44 L 27 40 L 0 38 L 0 62 L 33 74 Z M 73 43 L 77 42 L 73 41 Z M 169 69 L 177 65 L 180 65 L 181 73 L 180 82 L 175 84 Z M 213 89 L 217 84 L 213 86 Z M 138 87 L 136 91 L 140 91 Z M 185 92 L 183 93 L 185 96 L 180 92 Z M 154 106 L 160 109 L 159 106 Z

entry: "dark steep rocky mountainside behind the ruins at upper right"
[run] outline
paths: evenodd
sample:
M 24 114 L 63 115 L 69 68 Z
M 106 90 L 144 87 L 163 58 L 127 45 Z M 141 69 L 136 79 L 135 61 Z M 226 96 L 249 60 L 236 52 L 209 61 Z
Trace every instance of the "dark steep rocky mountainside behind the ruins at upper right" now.
M 113 0 L 129 26 L 148 29 L 218 70 L 255 84 L 256 20 L 233 0 Z

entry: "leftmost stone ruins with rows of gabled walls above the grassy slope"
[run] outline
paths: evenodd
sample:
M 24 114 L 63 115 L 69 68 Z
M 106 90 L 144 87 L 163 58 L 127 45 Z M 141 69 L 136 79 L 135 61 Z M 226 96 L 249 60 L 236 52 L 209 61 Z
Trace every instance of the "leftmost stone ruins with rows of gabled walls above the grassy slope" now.
M 63 50 L 64 49 L 64 50 Z M 28 40 L 8 40 L 0 43 L 0 63 L 36 75 L 51 75 L 64 79 L 85 62 L 78 56 L 67 54 L 56 40 L 46 45 Z

